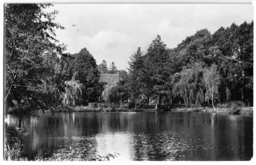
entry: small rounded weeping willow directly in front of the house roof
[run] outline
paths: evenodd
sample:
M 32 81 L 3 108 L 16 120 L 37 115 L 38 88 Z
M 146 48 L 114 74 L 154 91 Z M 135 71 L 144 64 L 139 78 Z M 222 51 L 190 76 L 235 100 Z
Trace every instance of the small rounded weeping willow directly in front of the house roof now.
M 111 103 L 118 103 L 121 98 L 119 85 L 117 83 L 106 85 L 102 91 L 101 98 L 108 103 L 109 107 Z

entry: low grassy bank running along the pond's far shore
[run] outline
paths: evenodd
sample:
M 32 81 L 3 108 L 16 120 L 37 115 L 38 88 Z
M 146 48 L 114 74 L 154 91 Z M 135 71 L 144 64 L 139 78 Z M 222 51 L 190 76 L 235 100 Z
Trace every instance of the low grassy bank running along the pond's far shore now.
M 175 105 L 173 105 L 175 106 Z M 138 112 L 138 111 L 156 111 L 155 108 L 90 108 L 88 106 L 75 106 L 69 107 L 66 105 L 49 106 L 47 109 L 34 109 L 30 107 L 19 107 L 8 109 L 9 114 L 41 114 L 41 113 L 59 113 L 59 112 Z M 207 107 L 165 107 L 159 111 L 172 111 L 172 112 L 215 112 L 211 106 Z M 231 101 L 216 105 L 216 113 L 228 114 L 253 114 L 253 107 L 247 107 L 241 101 Z

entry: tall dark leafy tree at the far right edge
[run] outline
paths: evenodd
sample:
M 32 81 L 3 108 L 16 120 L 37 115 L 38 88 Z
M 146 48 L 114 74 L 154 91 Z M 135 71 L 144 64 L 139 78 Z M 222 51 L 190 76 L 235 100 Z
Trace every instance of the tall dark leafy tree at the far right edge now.
M 253 21 L 240 26 L 232 23 L 228 28 L 220 28 L 212 36 L 215 46 L 221 51 L 221 60 L 216 60 L 220 67 L 222 83 L 221 100 L 242 100 L 253 103 L 252 68 L 253 68 Z M 228 90 L 226 90 L 228 88 Z M 237 90 L 239 89 L 239 90 Z M 229 93 L 230 95 L 226 95 Z

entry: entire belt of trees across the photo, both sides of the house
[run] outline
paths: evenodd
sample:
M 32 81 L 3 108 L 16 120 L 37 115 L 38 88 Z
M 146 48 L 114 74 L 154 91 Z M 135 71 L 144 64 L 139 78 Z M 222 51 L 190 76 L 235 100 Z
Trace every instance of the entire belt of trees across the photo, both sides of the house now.
M 63 53 L 49 4 L 5 6 L 5 106 L 49 109 L 89 102 L 178 104 L 186 107 L 228 101 L 253 103 L 253 22 L 206 29 L 168 49 L 157 37 L 131 56 L 128 72 L 114 62 L 98 66 L 84 48 Z M 44 18 L 44 19 L 42 19 Z M 99 83 L 99 74 L 119 73 L 120 82 Z M 143 98 L 143 99 L 141 99 Z

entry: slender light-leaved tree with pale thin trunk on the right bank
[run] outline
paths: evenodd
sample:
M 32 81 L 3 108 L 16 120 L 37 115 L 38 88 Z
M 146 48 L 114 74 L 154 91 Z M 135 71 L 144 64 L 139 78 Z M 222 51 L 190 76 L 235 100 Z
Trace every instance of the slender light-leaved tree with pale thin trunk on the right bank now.
M 216 112 L 214 101 L 219 97 L 218 87 L 220 85 L 220 74 L 217 70 L 217 65 L 212 64 L 209 69 L 206 69 L 203 77 L 206 87 L 205 100 L 211 100 L 212 107 Z

